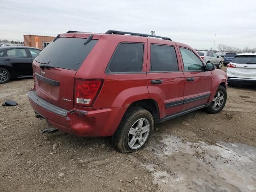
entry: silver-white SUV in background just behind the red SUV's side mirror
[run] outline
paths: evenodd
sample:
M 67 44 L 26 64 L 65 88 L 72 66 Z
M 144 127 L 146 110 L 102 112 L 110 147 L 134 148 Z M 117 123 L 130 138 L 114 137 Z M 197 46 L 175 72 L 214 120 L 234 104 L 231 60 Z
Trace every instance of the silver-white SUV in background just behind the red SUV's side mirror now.
M 204 62 L 213 63 L 218 69 L 222 68 L 222 59 L 212 51 L 198 51 L 198 55 L 204 60 Z

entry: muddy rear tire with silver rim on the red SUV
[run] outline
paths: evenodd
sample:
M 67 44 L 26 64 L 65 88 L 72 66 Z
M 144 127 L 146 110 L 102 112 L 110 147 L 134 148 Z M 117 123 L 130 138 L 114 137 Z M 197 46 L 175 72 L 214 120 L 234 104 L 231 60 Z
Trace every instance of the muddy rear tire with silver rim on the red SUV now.
M 112 142 L 118 152 L 129 153 L 146 146 L 154 130 L 154 119 L 148 110 L 133 107 L 127 110 Z

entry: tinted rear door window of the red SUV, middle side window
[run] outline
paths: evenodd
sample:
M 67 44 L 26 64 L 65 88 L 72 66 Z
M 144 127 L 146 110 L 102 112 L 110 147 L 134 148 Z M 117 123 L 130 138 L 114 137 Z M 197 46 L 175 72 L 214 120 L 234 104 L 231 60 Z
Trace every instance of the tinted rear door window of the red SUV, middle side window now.
M 151 71 L 178 71 L 178 61 L 175 48 L 164 45 L 151 45 Z

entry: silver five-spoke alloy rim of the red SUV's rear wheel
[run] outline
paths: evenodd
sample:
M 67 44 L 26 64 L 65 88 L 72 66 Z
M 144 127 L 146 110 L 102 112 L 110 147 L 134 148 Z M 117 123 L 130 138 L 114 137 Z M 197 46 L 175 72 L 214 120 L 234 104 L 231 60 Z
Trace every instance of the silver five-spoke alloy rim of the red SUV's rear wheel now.
M 140 148 L 147 140 L 150 132 L 150 124 L 147 119 L 140 118 L 131 126 L 128 133 L 128 146 L 131 149 Z

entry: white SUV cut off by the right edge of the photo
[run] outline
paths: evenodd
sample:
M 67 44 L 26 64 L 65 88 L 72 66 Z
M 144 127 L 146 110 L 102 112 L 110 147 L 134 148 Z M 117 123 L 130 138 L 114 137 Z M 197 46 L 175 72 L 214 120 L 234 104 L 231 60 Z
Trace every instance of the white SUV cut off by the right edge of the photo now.
M 227 67 L 229 86 L 256 84 L 256 53 L 237 54 Z

